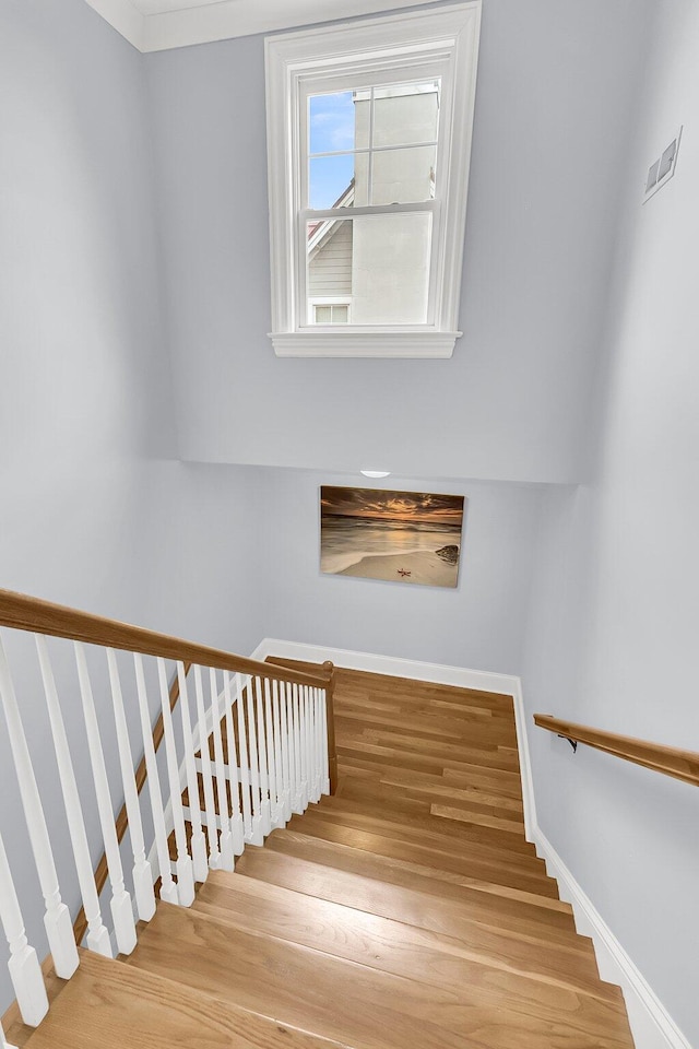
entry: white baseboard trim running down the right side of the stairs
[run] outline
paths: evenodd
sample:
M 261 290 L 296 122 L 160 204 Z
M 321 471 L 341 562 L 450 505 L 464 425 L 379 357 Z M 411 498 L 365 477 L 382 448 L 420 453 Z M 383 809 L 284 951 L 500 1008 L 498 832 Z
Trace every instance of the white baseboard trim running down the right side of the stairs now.
M 591 936 L 603 980 L 624 991 L 636 1049 L 691 1049 L 672 1016 L 616 939 L 590 897 L 583 892 L 546 835 L 536 827 L 536 851 L 558 882 L 560 898 L 573 909 L 576 928 Z

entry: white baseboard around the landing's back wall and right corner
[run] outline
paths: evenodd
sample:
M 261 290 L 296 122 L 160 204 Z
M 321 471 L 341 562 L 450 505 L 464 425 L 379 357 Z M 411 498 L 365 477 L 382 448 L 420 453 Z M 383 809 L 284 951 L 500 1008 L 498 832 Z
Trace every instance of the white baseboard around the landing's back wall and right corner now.
M 434 681 L 440 685 L 454 685 L 457 688 L 475 688 L 478 692 L 498 692 L 512 696 L 522 777 L 524 832 L 528 841 L 534 840 L 536 806 L 526 742 L 522 685 L 519 677 L 485 670 L 470 670 L 466 667 L 450 667 L 447 663 L 427 663 L 414 659 L 399 659 L 395 656 L 355 652 L 346 648 L 327 648 L 321 645 L 306 645 L 301 641 L 284 641 L 276 637 L 265 637 L 260 641 L 251 658 L 264 660 L 268 656 L 300 659 L 309 663 L 323 663 L 325 660 L 331 660 L 336 667 L 346 667 L 348 670 L 365 670 L 371 674 L 386 674 L 389 677 L 412 677 L 414 681 Z

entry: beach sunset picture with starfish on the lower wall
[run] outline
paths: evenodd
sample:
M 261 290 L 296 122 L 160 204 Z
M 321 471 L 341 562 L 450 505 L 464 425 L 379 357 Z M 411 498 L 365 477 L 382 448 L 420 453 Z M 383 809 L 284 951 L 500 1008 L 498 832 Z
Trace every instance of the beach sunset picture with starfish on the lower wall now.
M 320 569 L 426 587 L 455 587 L 462 495 L 320 490 Z

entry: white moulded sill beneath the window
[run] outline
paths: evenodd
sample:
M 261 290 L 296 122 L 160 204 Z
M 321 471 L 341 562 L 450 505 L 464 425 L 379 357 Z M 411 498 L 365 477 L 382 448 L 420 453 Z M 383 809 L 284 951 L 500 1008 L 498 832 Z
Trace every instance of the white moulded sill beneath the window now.
M 277 331 L 270 334 L 277 357 L 448 358 L 460 331 Z

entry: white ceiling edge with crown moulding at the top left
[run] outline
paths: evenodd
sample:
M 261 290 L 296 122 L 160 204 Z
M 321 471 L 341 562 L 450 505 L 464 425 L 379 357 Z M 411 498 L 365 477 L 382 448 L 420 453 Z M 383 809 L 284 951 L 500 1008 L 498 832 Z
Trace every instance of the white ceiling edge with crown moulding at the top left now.
M 140 51 L 162 51 L 270 33 L 353 15 L 412 8 L 425 0 L 85 0 Z M 427 0 L 435 2 L 435 0 Z

